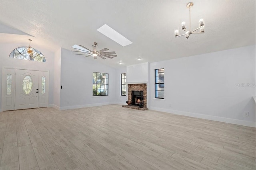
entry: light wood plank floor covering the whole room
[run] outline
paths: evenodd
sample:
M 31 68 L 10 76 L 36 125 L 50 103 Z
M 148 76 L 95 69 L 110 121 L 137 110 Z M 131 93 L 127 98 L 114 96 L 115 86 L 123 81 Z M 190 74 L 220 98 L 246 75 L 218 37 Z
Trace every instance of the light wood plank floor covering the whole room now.
M 0 113 L 0 170 L 255 170 L 255 128 L 118 105 Z

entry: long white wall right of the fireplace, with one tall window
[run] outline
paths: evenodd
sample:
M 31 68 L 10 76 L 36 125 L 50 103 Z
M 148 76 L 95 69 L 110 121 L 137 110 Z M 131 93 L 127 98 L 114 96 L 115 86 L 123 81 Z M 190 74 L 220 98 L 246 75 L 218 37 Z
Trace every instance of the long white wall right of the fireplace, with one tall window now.
M 153 95 L 158 68 L 165 71 L 164 100 Z M 150 109 L 255 127 L 255 86 L 242 83 L 255 83 L 255 45 L 150 63 Z

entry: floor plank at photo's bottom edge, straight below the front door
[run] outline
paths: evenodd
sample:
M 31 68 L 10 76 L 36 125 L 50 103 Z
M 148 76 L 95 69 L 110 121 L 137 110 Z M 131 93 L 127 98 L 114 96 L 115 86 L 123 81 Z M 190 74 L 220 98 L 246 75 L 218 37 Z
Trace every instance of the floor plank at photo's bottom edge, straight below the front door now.
M 18 147 L 20 169 L 29 170 L 38 166 L 32 145 Z

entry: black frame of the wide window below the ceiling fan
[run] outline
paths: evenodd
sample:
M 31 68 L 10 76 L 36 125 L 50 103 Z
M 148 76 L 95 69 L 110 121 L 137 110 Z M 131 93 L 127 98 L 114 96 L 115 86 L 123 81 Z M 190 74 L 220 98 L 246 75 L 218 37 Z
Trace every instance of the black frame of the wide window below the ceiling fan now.
M 96 82 L 94 81 L 94 73 L 96 73 Z M 98 77 L 98 74 L 107 74 L 107 78 L 105 78 L 107 80 L 106 83 L 102 83 L 102 80 L 104 78 L 102 77 Z M 92 96 L 108 96 L 108 79 L 109 79 L 109 74 L 108 73 L 103 73 L 103 72 L 92 72 Z M 99 81 L 99 82 L 97 82 Z M 100 89 L 97 89 L 97 86 L 96 86 L 96 89 L 94 89 L 94 85 L 100 85 Z M 100 94 L 98 94 L 98 90 L 102 90 L 101 89 L 101 86 L 104 86 L 104 94 L 101 94 L 102 92 L 100 92 Z M 107 85 L 107 89 L 105 89 L 105 85 Z M 105 92 L 105 90 L 107 90 L 107 94 Z M 95 95 L 96 94 L 96 95 Z

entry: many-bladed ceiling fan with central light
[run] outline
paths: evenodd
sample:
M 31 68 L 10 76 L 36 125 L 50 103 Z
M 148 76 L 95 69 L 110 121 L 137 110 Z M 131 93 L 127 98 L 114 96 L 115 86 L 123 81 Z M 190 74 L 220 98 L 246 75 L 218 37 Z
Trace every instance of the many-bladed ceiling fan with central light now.
M 117 56 L 117 55 L 113 55 L 113 54 L 116 54 L 116 52 L 114 52 L 114 51 L 105 52 L 105 51 L 108 51 L 107 48 L 97 51 L 96 50 L 97 44 L 98 43 L 94 42 L 94 45 L 92 45 L 92 51 L 82 45 L 73 45 L 72 48 L 78 50 L 78 51 L 73 51 L 73 52 L 81 53 L 81 54 L 76 54 L 76 55 L 87 55 L 85 57 L 93 56 L 94 59 L 97 59 L 97 56 L 99 56 L 100 58 L 102 58 L 104 60 L 106 58 L 113 59 L 113 57 Z

